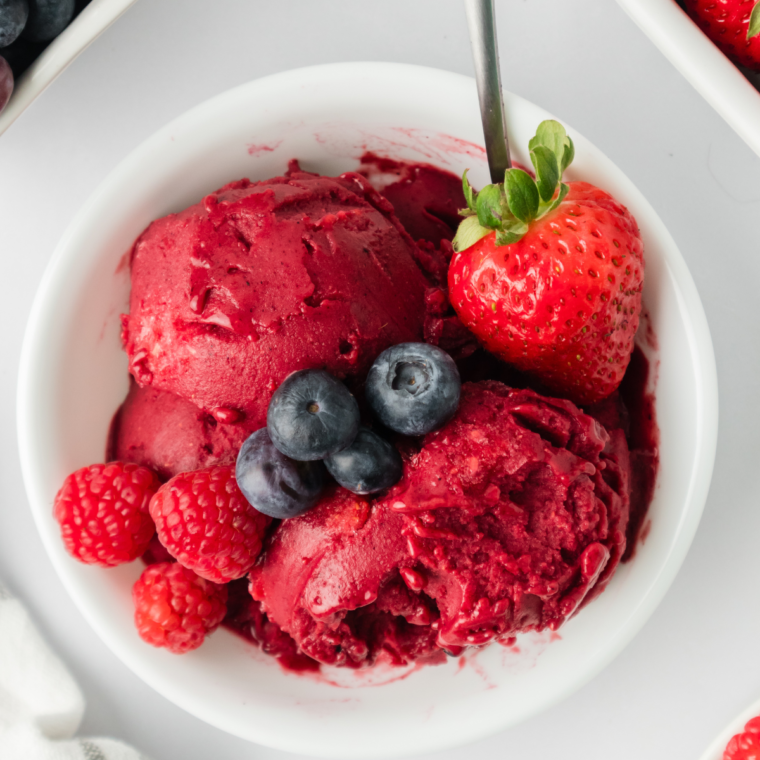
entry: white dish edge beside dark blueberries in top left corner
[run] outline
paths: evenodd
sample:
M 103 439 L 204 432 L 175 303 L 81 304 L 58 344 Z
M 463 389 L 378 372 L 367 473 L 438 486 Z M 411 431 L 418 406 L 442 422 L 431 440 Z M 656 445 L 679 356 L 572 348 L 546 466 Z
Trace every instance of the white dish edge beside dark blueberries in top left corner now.
M 24 109 L 135 0 L 92 0 L 18 78 L 8 105 L 0 112 L 0 135 Z M 2 51 L 0 51 L 2 52 Z

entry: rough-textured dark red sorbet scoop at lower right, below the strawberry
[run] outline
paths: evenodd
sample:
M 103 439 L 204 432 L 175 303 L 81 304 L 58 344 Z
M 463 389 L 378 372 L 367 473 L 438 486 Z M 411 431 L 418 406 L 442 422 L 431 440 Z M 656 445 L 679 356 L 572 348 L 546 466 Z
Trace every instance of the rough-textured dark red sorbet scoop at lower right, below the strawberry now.
M 487 381 L 405 455 L 384 498 L 330 491 L 251 572 L 269 619 L 323 663 L 363 667 L 556 629 L 625 549 L 622 431 Z

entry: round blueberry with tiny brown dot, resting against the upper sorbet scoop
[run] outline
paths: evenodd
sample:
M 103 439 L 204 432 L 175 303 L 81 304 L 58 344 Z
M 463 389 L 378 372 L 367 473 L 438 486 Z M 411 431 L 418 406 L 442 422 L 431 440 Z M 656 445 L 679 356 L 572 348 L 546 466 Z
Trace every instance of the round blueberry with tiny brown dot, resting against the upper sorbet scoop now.
M 267 428 L 285 456 L 304 462 L 324 459 L 356 438 L 359 405 L 329 372 L 302 369 L 274 392 Z

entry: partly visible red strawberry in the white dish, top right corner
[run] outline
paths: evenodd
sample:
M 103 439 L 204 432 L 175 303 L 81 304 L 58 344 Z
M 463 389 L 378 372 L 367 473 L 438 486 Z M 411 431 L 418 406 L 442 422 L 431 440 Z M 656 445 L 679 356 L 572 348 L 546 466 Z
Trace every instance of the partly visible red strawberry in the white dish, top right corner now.
M 731 60 L 760 71 L 760 0 L 685 0 L 685 5 Z

